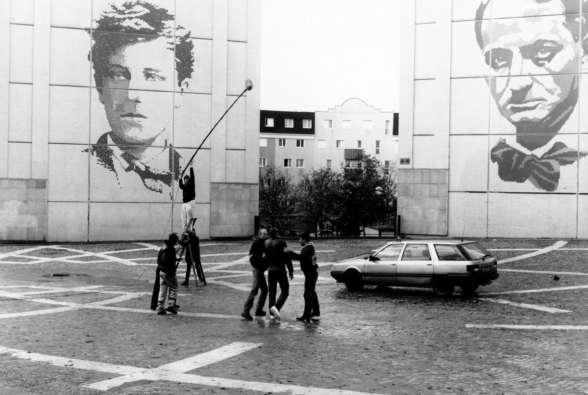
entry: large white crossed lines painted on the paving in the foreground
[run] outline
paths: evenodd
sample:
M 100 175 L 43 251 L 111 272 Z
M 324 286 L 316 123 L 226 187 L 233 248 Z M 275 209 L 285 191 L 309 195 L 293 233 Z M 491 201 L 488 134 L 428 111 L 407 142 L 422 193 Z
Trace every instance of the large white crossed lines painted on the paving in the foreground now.
M 72 369 L 93 370 L 103 373 L 121 374 L 115 379 L 98 381 L 97 383 L 86 384 L 96 390 L 109 390 L 127 383 L 136 383 L 141 380 L 149 381 L 176 381 L 187 384 L 202 386 L 222 387 L 238 390 L 259 391 L 265 393 L 289 393 L 292 395 L 382 395 L 366 393 L 362 391 L 350 391 L 339 389 L 328 389 L 319 387 L 305 387 L 280 383 L 263 383 L 260 381 L 245 381 L 225 379 L 223 377 L 205 377 L 196 374 L 185 373 L 202 366 L 239 355 L 246 351 L 261 346 L 262 343 L 231 343 L 227 346 L 216 348 L 216 350 L 198 354 L 180 361 L 164 364 L 153 369 L 143 369 L 134 366 L 115 365 L 94 361 L 78 360 L 64 357 L 50 356 L 46 354 L 29 353 L 28 351 L 16 350 L 15 348 L 0 347 L 0 354 L 9 354 L 19 359 L 52 364 L 59 367 L 70 367 Z

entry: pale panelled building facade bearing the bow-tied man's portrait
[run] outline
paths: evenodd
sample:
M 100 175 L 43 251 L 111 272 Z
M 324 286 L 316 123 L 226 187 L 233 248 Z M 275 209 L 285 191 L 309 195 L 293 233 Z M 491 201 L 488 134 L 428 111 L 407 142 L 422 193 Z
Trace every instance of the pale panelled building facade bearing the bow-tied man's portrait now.
M 588 237 L 585 3 L 403 1 L 404 233 Z

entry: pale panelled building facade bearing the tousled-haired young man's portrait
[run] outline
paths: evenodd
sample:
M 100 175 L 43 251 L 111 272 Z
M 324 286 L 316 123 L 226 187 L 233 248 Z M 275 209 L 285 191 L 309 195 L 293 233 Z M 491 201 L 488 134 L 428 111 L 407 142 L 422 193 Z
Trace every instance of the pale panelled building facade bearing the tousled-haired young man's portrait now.
M 259 0 L 0 1 L 0 240 L 253 233 Z M 186 172 L 189 172 L 187 170 Z

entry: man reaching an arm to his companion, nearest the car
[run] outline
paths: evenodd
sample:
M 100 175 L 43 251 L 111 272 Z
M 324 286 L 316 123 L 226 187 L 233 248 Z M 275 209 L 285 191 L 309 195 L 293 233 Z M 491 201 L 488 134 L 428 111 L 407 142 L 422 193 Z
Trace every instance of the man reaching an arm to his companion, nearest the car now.
M 315 245 L 310 241 L 310 233 L 304 232 L 300 235 L 300 245 L 302 245 L 300 254 L 288 251 L 291 259 L 300 261 L 300 270 L 304 273 L 304 312 L 302 316 L 296 317 L 296 320 L 310 321 L 310 318 L 320 316 L 319 298 L 315 291 L 319 272 L 316 264 Z

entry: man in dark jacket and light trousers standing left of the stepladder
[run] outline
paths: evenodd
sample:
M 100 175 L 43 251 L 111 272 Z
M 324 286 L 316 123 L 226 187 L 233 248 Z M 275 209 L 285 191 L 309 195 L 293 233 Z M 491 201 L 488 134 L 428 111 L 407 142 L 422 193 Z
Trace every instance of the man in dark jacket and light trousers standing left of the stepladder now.
M 173 308 L 173 306 L 176 306 L 176 300 L 178 298 L 178 278 L 176 277 L 178 258 L 176 257 L 176 243 L 178 243 L 178 234 L 170 233 L 168 240 L 165 241 L 165 245 L 159 251 L 157 257 L 157 263 L 159 265 L 159 299 L 156 310 L 160 316 L 166 314 L 166 312 L 178 314 L 178 311 Z M 167 307 L 163 308 L 166 297 L 168 298 Z

